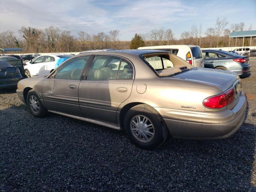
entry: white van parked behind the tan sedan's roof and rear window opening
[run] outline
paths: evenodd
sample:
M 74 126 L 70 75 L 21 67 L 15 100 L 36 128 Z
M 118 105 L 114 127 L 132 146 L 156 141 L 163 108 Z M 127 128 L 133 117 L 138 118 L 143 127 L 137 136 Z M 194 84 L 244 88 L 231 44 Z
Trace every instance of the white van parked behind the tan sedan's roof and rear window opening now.
M 161 45 L 161 46 L 149 46 L 139 47 L 138 49 L 153 49 L 170 52 L 195 67 L 204 67 L 204 58 L 202 50 L 196 45 Z

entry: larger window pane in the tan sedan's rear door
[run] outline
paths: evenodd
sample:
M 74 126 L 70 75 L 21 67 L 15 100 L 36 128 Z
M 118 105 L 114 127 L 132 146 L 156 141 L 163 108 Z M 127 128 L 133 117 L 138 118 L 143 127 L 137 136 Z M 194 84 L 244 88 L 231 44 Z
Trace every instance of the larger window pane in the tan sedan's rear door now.
M 120 58 L 110 55 L 96 55 L 90 66 L 86 80 L 116 79 Z

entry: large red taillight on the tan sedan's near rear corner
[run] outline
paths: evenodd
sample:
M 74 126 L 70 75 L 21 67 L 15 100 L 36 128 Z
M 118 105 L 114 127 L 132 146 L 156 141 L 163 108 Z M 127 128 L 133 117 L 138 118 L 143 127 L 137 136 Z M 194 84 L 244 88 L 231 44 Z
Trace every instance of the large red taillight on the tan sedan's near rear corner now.
M 221 95 L 206 98 L 203 103 L 204 103 L 204 106 L 207 108 L 219 109 L 232 103 L 234 99 L 235 99 L 235 90 L 234 88 L 232 88 Z

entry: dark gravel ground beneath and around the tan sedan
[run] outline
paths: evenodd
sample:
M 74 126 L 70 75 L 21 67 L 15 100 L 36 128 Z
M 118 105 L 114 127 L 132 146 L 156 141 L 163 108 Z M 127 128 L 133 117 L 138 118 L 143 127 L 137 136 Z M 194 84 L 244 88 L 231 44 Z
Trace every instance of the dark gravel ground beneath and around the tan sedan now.
M 0 191 L 256 191 L 256 58 L 242 79 L 248 110 L 224 140 L 170 138 L 154 151 L 123 132 L 51 114 L 0 92 Z

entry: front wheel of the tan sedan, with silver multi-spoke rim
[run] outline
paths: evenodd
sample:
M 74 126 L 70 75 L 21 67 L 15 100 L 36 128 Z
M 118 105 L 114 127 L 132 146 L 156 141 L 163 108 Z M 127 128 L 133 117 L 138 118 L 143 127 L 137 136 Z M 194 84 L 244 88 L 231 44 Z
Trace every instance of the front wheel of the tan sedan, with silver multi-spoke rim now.
M 36 117 L 44 117 L 48 113 L 34 90 L 30 90 L 27 94 L 27 105 L 30 112 Z

